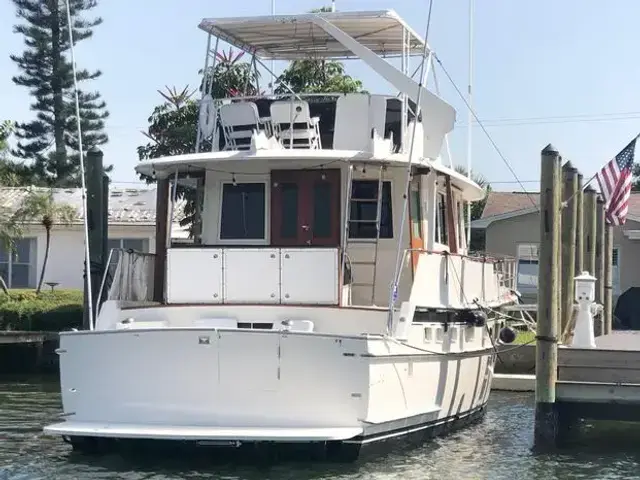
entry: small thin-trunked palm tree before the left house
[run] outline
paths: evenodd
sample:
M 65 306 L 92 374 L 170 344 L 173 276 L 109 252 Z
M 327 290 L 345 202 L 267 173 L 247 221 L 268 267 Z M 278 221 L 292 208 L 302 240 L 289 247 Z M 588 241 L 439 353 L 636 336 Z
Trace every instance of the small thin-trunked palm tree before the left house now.
M 22 200 L 20 207 L 13 214 L 9 222 L 16 227 L 23 229 L 26 225 L 39 223 L 45 229 L 47 243 L 44 251 L 44 261 L 36 294 L 42 289 L 44 273 L 49 260 L 49 248 L 51 246 L 51 231 L 54 225 L 71 225 L 77 217 L 77 210 L 71 205 L 57 203 L 53 195 L 53 189 L 40 190 L 30 188 L 27 196 Z

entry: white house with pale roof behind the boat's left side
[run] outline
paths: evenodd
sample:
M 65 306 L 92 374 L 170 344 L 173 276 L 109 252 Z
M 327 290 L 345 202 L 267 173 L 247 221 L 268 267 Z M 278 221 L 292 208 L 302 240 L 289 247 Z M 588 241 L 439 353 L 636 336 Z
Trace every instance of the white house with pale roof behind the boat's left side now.
M 48 191 L 48 190 L 47 190 Z M 67 204 L 78 212 L 70 226 L 54 225 L 46 282 L 55 282 L 55 288 L 82 288 L 84 271 L 84 227 L 82 217 L 82 191 L 79 188 L 54 189 L 57 204 Z M 24 187 L 1 187 L 0 208 L 11 214 L 28 195 Z M 108 248 L 132 248 L 153 253 L 155 247 L 156 189 L 115 188 L 109 191 L 109 244 Z M 183 235 L 174 224 L 172 235 Z M 9 288 L 35 288 L 46 248 L 46 235 L 42 225 L 27 225 L 23 238 L 16 242 L 16 249 L 9 254 L 0 245 L 0 274 Z M 112 258 L 112 262 L 115 258 Z

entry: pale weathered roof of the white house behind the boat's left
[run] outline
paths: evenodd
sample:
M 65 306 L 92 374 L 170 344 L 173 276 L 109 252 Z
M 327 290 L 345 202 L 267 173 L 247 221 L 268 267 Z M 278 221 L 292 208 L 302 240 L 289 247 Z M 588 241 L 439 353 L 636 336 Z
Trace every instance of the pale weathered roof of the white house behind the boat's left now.
M 0 187 L 0 208 L 10 212 L 17 210 L 26 198 L 30 189 L 49 191 L 37 187 Z M 78 212 L 77 222 L 81 223 L 82 189 L 54 188 L 55 202 L 66 204 Z M 182 208 L 177 208 L 182 212 Z M 175 216 L 178 220 L 178 215 Z M 117 188 L 109 189 L 109 224 L 110 225 L 154 225 L 156 222 L 156 188 Z

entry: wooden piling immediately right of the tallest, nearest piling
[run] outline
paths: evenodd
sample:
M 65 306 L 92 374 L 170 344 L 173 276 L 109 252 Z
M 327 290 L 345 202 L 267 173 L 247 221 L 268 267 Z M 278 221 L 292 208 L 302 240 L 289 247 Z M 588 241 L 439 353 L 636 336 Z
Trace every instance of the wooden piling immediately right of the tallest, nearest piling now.
M 561 316 L 560 332 L 564 332 L 566 325 L 571 321 L 573 313 L 573 279 L 576 270 L 576 222 L 578 214 L 578 170 L 573 168 L 571 162 L 562 166 L 562 261 L 561 261 Z

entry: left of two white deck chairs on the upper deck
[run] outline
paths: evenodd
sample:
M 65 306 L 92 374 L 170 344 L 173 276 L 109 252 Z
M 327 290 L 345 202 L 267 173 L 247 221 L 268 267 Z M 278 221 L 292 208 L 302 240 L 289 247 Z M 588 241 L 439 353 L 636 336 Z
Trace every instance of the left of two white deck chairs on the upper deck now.
M 236 102 L 220 107 L 224 150 L 248 149 L 253 131 L 260 131 L 260 115 L 253 102 Z

